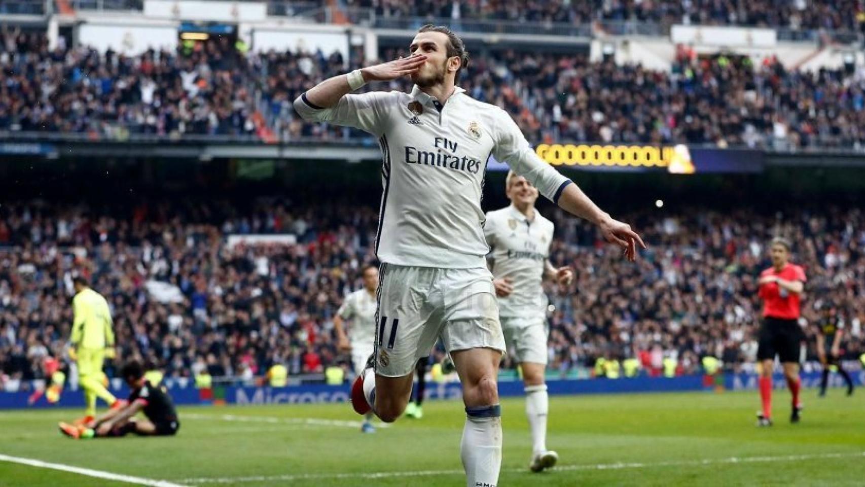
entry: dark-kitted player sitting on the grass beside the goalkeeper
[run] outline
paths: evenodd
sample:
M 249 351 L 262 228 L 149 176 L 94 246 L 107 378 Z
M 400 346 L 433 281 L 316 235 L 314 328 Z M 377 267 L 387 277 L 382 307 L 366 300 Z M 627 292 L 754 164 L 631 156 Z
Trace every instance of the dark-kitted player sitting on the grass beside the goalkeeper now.
M 72 439 L 117 438 L 127 433 L 175 435 L 180 422 L 168 390 L 164 386 L 152 386 L 144 378 L 144 367 L 136 361 L 127 363 L 121 375 L 132 391 L 125 405 L 111 409 L 86 425 L 61 423 L 61 433 Z M 146 419 L 135 419 L 138 412 L 143 412 Z

